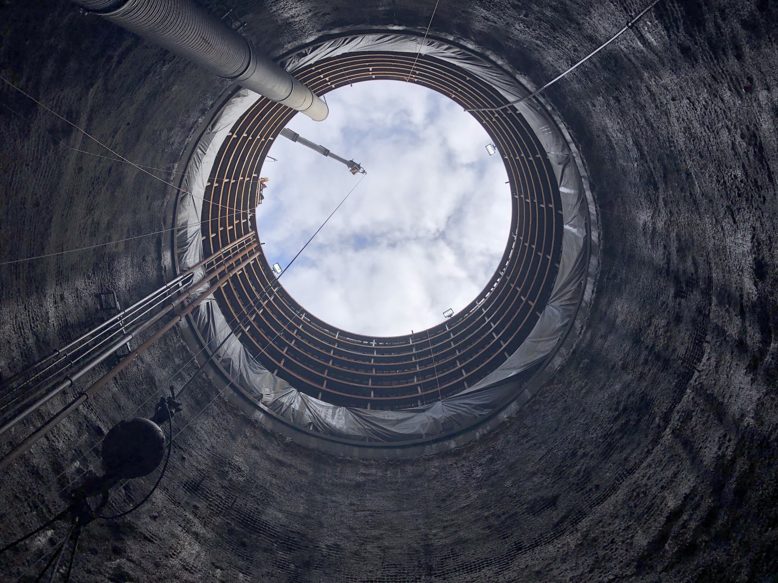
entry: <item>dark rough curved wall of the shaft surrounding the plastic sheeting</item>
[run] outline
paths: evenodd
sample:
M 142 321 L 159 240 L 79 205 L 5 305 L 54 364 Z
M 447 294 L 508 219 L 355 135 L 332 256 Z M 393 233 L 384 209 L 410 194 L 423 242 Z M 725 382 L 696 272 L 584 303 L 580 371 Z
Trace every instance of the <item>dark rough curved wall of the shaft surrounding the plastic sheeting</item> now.
M 230 6 L 280 54 L 347 27 L 423 31 L 433 2 Z M 430 33 L 539 86 L 640 8 L 442 0 Z M 85 529 L 72 581 L 778 581 L 776 23 L 767 0 L 663 0 L 548 89 L 599 204 L 601 273 L 572 356 L 520 415 L 445 454 L 349 459 L 268 431 L 203 375 L 161 486 Z M 166 182 L 225 83 L 66 2 L 8 0 L 0 35 L 2 77 L 116 152 L 0 82 L 2 260 L 168 229 Z M 0 266 L 2 375 L 104 319 L 96 294 L 126 305 L 166 278 L 169 232 Z M 195 371 L 185 333 L 0 476 L 2 544 Z M 64 535 L 6 553 L 0 578 L 34 579 Z

